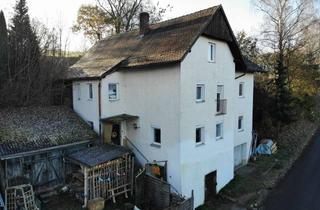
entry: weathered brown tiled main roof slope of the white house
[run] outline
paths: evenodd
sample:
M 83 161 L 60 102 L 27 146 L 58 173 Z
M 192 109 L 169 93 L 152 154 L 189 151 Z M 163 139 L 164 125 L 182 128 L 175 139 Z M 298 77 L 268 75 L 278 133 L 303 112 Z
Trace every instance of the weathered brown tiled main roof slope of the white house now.
M 65 78 L 99 78 L 115 66 L 126 68 L 181 61 L 220 7 L 150 25 L 144 37 L 139 36 L 139 30 L 133 30 L 101 40 L 69 69 Z

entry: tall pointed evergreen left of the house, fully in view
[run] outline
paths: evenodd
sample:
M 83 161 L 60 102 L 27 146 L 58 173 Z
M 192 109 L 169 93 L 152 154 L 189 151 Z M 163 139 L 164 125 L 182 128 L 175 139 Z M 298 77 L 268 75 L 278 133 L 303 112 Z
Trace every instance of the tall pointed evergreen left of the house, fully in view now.
M 9 30 L 9 67 L 18 100 L 28 104 L 40 71 L 40 47 L 26 0 L 17 0 Z

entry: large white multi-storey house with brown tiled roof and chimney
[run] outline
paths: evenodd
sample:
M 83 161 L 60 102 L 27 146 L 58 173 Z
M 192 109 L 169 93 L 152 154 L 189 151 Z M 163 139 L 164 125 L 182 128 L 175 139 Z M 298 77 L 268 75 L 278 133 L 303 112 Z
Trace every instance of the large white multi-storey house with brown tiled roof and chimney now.
M 156 24 L 141 13 L 139 29 L 96 43 L 65 79 L 104 142 L 128 145 L 142 164 L 165 162 L 166 180 L 193 190 L 197 207 L 248 160 L 260 70 L 220 5 Z

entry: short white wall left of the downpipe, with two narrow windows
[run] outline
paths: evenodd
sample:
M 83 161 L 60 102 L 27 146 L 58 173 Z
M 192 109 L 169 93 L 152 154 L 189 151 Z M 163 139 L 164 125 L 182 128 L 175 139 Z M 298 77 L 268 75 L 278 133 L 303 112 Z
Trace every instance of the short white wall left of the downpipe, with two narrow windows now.
M 93 98 L 89 99 L 88 84 L 92 83 Z M 78 99 L 77 85 L 80 85 L 81 97 Z M 74 81 L 72 83 L 72 100 L 74 111 L 85 121 L 93 122 L 94 131 L 99 133 L 99 81 Z

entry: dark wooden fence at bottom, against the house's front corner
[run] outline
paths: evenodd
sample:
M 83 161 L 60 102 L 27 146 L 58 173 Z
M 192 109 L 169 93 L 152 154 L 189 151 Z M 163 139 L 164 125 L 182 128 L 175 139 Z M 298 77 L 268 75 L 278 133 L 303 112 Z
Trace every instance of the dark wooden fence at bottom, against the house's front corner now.
M 193 193 L 185 199 L 170 189 L 168 182 L 141 173 L 136 177 L 135 205 L 143 210 L 193 210 Z

